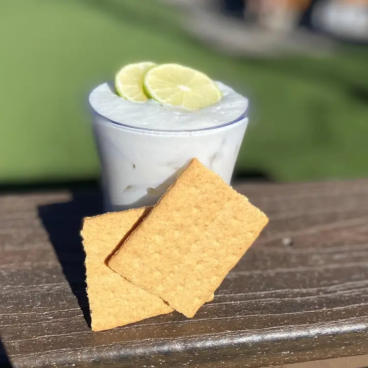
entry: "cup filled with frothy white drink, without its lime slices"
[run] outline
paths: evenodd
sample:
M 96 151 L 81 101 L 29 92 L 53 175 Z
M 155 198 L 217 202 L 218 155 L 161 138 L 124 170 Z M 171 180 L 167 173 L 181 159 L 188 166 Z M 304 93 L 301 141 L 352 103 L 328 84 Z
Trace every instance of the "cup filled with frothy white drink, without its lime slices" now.
M 219 102 L 190 112 L 125 100 L 108 83 L 91 92 L 106 211 L 156 204 L 194 157 L 230 184 L 248 99 L 217 86 Z

